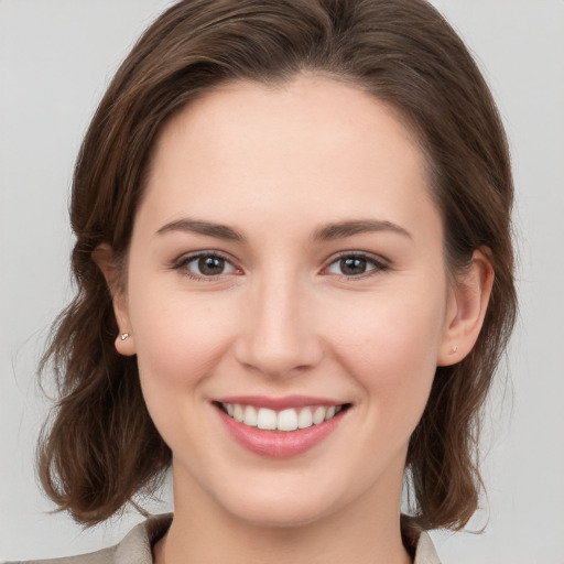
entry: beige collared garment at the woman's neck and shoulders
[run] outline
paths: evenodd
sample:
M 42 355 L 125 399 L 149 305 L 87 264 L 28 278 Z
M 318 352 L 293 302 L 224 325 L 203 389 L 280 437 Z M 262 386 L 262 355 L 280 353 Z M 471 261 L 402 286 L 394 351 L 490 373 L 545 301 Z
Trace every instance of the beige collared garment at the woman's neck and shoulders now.
M 119 544 L 109 549 L 79 556 L 6 564 L 153 564 L 153 544 L 166 533 L 171 522 L 172 513 L 152 516 L 135 525 Z M 419 539 L 414 564 L 441 564 L 426 532 L 421 533 Z

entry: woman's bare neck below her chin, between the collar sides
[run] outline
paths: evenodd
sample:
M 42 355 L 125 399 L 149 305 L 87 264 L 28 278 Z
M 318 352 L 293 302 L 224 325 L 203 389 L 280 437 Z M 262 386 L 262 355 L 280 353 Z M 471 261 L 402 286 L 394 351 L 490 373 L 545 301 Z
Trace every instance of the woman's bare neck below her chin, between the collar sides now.
M 238 519 L 198 488 L 175 479 L 175 513 L 155 546 L 156 564 L 409 564 L 400 532 L 401 484 L 311 523 L 265 527 Z M 389 485 L 387 485 L 389 486 Z

